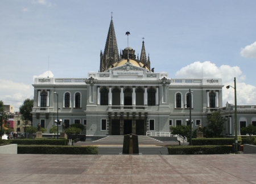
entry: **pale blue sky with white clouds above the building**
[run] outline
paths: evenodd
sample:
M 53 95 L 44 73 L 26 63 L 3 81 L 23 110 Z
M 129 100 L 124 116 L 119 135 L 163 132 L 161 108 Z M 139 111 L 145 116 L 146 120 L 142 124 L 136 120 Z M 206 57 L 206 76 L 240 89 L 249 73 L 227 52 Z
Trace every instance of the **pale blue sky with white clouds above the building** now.
M 35 76 L 98 71 L 113 11 L 118 49 L 141 53 L 170 78 L 222 78 L 238 104 L 256 105 L 256 1 L 0 1 L 0 100 L 33 97 Z M 49 60 L 49 72 L 48 72 Z M 203 71 L 202 71 L 203 69 Z M 234 91 L 223 88 L 223 104 Z

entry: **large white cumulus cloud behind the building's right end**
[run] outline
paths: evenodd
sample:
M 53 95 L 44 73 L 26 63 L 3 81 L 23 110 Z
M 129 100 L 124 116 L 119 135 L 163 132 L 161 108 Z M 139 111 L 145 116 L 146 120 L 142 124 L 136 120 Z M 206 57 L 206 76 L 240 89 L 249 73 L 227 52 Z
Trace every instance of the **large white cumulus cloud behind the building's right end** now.
M 181 68 L 176 72 L 177 78 L 221 78 L 222 84 L 222 101 L 223 106 L 229 101 L 234 104 L 233 88 L 226 89 L 226 85 L 234 87 L 234 77 L 236 77 L 237 86 L 237 105 L 256 105 L 256 87 L 250 84 L 245 84 L 243 81 L 246 76 L 243 75 L 240 67 L 221 65 L 216 66 L 210 61 L 194 62 L 188 66 Z

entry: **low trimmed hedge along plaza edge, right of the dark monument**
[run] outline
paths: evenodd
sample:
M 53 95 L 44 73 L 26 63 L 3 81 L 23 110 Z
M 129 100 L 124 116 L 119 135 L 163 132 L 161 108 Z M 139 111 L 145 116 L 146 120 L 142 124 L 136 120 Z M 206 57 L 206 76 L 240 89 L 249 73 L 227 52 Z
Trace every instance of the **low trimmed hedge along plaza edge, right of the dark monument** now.
M 213 155 L 229 154 L 232 152 L 232 146 L 168 146 L 169 155 Z

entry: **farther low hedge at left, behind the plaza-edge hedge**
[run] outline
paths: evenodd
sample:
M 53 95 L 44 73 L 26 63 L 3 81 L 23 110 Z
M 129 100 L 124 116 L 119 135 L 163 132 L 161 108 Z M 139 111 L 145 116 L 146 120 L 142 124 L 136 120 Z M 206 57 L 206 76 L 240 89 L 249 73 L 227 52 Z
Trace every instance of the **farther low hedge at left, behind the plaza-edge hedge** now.
M 67 139 L 11 139 L 12 144 L 18 145 L 68 145 Z

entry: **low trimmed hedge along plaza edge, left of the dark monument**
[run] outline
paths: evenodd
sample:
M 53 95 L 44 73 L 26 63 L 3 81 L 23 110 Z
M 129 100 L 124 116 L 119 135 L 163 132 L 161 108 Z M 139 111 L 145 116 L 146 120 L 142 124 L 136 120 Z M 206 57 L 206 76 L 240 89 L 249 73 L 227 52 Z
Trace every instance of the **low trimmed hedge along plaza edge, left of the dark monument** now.
M 98 155 L 98 147 L 18 145 L 18 154 Z

